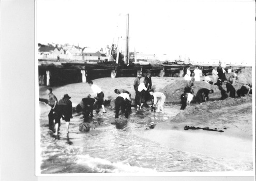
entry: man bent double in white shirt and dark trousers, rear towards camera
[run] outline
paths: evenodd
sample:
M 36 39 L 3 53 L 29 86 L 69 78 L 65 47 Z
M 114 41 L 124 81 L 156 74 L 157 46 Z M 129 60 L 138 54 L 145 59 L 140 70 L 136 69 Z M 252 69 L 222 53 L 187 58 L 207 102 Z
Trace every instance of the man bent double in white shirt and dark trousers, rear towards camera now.
M 122 110 L 122 113 L 125 113 L 125 117 L 129 117 L 131 112 L 131 98 L 127 93 L 121 93 L 115 99 L 115 118 L 119 116 L 119 110 Z

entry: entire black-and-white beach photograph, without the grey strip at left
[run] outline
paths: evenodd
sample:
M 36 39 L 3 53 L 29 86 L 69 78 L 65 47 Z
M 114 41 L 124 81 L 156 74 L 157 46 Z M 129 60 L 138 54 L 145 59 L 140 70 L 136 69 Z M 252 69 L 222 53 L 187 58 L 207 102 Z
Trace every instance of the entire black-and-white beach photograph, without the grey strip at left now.
M 35 172 L 255 174 L 254 1 L 35 2 Z

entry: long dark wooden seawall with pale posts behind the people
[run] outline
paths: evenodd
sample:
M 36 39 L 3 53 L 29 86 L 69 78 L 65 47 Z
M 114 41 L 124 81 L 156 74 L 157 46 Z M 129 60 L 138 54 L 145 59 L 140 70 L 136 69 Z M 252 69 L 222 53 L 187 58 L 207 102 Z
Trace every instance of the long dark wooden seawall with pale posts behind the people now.
M 83 82 L 104 78 L 104 77 L 136 77 L 139 70 L 143 77 L 150 70 L 153 77 L 183 77 L 184 69 L 187 65 L 159 64 L 140 65 L 115 64 L 113 62 L 100 64 L 85 63 L 62 63 L 61 65 L 42 64 L 38 66 L 39 85 L 57 86 L 70 83 Z M 189 65 L 193 74 L 195 66 Z M 240 70 L 243 67 L 227 66 L 227 69 Z M 203 73 L 210 74 L 213 66 L 200 66 Z

